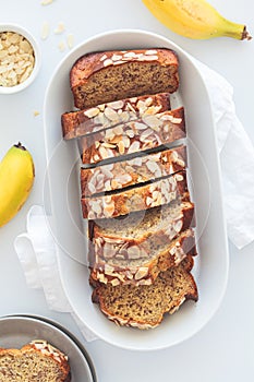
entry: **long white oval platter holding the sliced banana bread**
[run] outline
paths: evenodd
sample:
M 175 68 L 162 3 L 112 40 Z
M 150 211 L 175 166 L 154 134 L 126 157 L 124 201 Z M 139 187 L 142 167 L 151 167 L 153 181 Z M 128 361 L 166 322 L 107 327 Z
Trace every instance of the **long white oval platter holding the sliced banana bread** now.
M 186 302 L 155 330 L 118 327 L 90 301 L 86 261 L 86 237 L 80 207 L 80 155 L 75 142 L 62 140 L 60 117 L 73 107 L 69 73 L 82 55 L 107 49 L 167 47 L 180 59 L 180 89 L 176 103 L 185 107 L 190 187 L 196 204 L 198 262 L 195 277 L 197 303 Z M 48 160 L 45 188 L 46 212 L 58 243 L 63 287 L 81 321 L 99 338 L 123 348 L 152 350 L 166 348 L 197 333 L 217 311 L 228 278 L 228 248 L 221 201 L 221 182 L 215 127 L 207 89 L 189 56 L 165 37 L 143 31 L 112 31 L 95 36 L 71 51 L 58 65 L 45 99 L 45 143 Z M 49 191 L 49 192 L 48 192 Z

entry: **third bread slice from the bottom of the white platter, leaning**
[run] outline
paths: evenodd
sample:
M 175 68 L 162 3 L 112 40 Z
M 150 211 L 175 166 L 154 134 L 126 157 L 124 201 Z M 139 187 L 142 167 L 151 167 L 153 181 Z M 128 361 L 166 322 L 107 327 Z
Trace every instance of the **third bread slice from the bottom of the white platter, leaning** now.
M 95 256 L 147 261 L 154 246 L 157 252 L 158 242 L 164 246 L 194 226 L 194 204 L 185 196 L 185 201 L 176 200 L 124 218 L 89 220 L 89 238 Z

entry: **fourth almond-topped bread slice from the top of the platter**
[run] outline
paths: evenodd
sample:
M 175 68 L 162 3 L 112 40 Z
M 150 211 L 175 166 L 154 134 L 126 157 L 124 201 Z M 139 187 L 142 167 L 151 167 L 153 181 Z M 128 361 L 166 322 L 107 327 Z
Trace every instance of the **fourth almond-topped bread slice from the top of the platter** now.
M 186 146 L 181 145 L 154 154 L 114 162 L 95 168 L 81 168 L 81 191 L 84 196 L 153 181 L 184 170 Z

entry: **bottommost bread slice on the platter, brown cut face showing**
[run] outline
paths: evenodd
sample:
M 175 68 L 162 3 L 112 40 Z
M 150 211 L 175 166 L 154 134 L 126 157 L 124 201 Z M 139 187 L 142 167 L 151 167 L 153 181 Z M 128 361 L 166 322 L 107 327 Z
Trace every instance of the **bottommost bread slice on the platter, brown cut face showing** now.
M 97 284 L 92 300 L 117 324 L 138 329 L 156 327 L 166 313 L 172 314 L 185 300 L 197 301 L 192 266 L 193 258 L 188 256 L 178 266 L 161 272 L 152 285 Z

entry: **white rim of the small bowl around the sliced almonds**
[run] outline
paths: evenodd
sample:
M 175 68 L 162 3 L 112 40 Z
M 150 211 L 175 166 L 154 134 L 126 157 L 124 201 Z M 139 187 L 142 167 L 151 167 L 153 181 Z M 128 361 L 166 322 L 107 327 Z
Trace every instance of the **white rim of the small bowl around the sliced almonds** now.
M 0 24 L 0 34 L 4 32 L 13 32 L 25 37 L 27 41 L 32 45 L 35 56 L 35 64 L 33 71 L 24 82 L 14 86 L 0 86 L 0 94 L 13 94 L 23 91 L 34 82 L 40 68 L 41 57 L 38 43 L 32 36 L 32 34 L 27 32 L 23 26 L 16 24 Z

